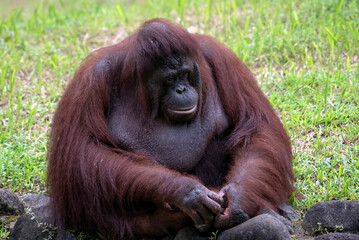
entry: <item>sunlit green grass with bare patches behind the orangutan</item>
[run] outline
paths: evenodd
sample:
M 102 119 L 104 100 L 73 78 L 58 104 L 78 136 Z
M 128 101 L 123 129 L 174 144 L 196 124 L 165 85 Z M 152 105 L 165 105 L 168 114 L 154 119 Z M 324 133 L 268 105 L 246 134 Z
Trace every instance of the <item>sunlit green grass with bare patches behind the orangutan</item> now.
M 214 36 L 252 69 L 291 136 L 305 196 L 297 209 L 359 200 L 358 1 L 99 2 L 0 2 L 0 188 L 46 192 L 51 118 L 74 71 L 92 50 L 165 17 Z

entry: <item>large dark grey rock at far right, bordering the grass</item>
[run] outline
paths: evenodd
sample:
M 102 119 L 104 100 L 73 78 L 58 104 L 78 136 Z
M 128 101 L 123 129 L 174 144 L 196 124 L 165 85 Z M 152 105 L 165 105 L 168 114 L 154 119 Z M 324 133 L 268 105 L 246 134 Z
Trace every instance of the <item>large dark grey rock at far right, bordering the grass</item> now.
M 320 202 L 312 206 L 303 220 L 308 232 L 359 232 L 359 201 Z

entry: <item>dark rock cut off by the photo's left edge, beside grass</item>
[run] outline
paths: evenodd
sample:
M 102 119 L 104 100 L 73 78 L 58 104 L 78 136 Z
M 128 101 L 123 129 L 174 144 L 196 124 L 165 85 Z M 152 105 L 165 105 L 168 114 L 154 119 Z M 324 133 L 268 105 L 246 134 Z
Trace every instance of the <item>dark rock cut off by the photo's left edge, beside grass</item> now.
M 24 205 L 10 190 L 0 189 L 0 215 L 20 215 Z

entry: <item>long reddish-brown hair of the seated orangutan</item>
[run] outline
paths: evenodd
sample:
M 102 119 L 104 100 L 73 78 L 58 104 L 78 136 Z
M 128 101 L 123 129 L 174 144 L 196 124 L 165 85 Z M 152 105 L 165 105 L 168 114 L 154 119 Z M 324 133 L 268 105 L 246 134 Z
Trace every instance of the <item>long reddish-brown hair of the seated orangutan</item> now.
M 240 179 L 245 187 L 242 208 L 251 216 L 261 206 L 278 210 L 293 192 L 288 136 L 247 67 L 215 39 L 154 19 L 87 57 L 59 102 L 48 152 L 48 186 L 60 226 L 131 236 L 136 199 L 160 201 L 176 191 L 171 183 L 181 174 L 116 145 L 106 120 L 111 92 L 129 88 L 135 95 L 123 98 L 136 98 L 146 121 L 146 76 L 173 54 L 196 60 L 202 104 L 218 91 L 233 123 L 227 147 L 235 160 L 227 182 L 235 182 L 243 169 L 253 172 Z

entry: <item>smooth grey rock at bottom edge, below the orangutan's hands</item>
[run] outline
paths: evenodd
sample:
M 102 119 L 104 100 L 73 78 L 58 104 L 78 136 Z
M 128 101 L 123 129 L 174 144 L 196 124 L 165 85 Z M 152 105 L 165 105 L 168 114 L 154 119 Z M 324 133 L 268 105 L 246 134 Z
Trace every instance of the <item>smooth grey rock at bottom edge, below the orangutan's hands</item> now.
M 269 214 L 262 214 L 220 233 L 217 239 L 287 240 L 291 238 L 287 227 L 280 220 Z

